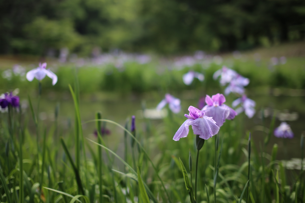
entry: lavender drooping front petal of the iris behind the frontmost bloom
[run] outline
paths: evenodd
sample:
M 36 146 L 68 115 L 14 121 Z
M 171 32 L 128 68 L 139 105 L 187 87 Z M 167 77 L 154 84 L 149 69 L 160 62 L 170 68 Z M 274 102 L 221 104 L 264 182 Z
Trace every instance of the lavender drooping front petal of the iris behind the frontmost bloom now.
M 230 110 L 221 105 L 221 106 L 208 106 L 203 107 L 205 111 L 205 116 L 212 117 L 216 124 L 221 127 L 226 118 L 228 118 L 230 114 Z

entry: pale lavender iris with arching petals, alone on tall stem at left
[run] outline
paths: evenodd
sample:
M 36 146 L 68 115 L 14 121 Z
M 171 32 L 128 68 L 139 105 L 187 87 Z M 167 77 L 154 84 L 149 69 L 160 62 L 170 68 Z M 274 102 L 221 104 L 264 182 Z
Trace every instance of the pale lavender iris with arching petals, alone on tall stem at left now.
M 39 63 L 39 67 L 27 72 L 27 80 L 32 81 L 36 78 L 41 81 L 45 76 L 48 76 L 52 79 L 52 85 L 55 85 L 57 83 L 57 76 L 50 69 L 46 69 L 46 67 L 47 63 Z

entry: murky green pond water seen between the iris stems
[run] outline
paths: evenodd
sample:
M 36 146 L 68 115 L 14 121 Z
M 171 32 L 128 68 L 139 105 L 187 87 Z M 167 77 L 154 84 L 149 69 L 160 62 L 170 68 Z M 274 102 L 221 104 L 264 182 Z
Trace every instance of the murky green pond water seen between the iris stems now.
M 292 159 L 300 158 L 300 137 L 305 130 L 305 97 L 300 94 L 294 96 L 287 96 L 283 94 L 257 94 L 257 91 L 249 91 L 249 98 L 256 101 L 256 114 L 249 119 L 244 113 L 238 115 L 235 119 L 244 123 L 244 129 L 252 132 L 252 138 L 256 147 L 259 150 L 259 143 L 263 143 L 264 137 L 267 136 L 262 130 L 262 115 L 264 115 L 264 123 L 269 128 L 273 112 L 277 112 L 275 127 L 279 126 L 282 121 L 286 121 L 292 128 L 295 135 L 293 139 L 279 139 L 272 134 L 269 144 L 267 145 L 267 153 L 271 153 L 274 143 L 278 144 L 278 159 Z M 302 92 L 302 91 L 301 91 Z M 214 94 L 215 92 L 212 92 Z M 181 112 L 174 115 L 176 118 L 183 117 L 184 113 L 188 113 L 188 106 L 193 105 L 197 107 L 199 97 L 194 91 L 184 91 L 175 94 L 176 97 L 181 98 Z M 202 95 L 202 94 L 201 94 Z M 211 94 L 210 94 L 211 95 Z M 145 101 L 147 109 L 154 109 L 156 105 L 163 99 L 163 95 L 158 92 L 150 92 L 141 95 L 130 94 L 127 96 L 120 96 L 112 93 L 98 92 L 95 94 L 81 95 L 80 97 L 80 113 L 82 122 L 95 118 L 95 112 L 101 111 L 104 119 L 110 119 L 124 126 L 126 119 L 131 115 L 136 115 L 137 123 L 141 123 L 142 119 L 142 104 Z M 22 98 L 22 96 L 21 96 Z M 27 98 L 27 97 L 23 97 Z M 35 95 L 31 96 L 33 104 L 35 105 Z M 226 97 L 229 106 L 235 97 Z M 22 101 L 22 99 L 21 99 Z M 22 101 L 26 103 L 26 101 Z M 55 106 L 60 105 L 59 111 L 59 126 L 62 134 L 68 132 L 69 120 L 74 124 L 74 104 L 69 92 L 55 93 L 49 92 L 42 95 L 40 119 L 45 126 L 53 125 Z M 262 113 L 263 111 L 263 113 Z M 32 123 L 29 109 L 27 111 L 30 118 L 30 131 L 34 134 L 34 124 Z M 72 121 L 72 122 L 71 122 Z M 229 121 L 227 121 L 229 122 Z M 162 119 L 152 120 L 153 126 L 162 125 Z M 141 130 L 141 125 L 138 125 L 137 130 Z M 107 128 L 111 131 L 110 136 L 106 136 L 106 142 L 110 148 L 117 148 L 123 146 L 123 131 L 118 127 L 107 124 Z M 84 136 L 90 139 L 95 139 L 93 134 L 95 130 L 95 123 L 87 123 L 83 125 Z M 190 130 L 190 133 L 192 131 Z M 168 141 L 171 142 L 173 135 L 168 135 Z

